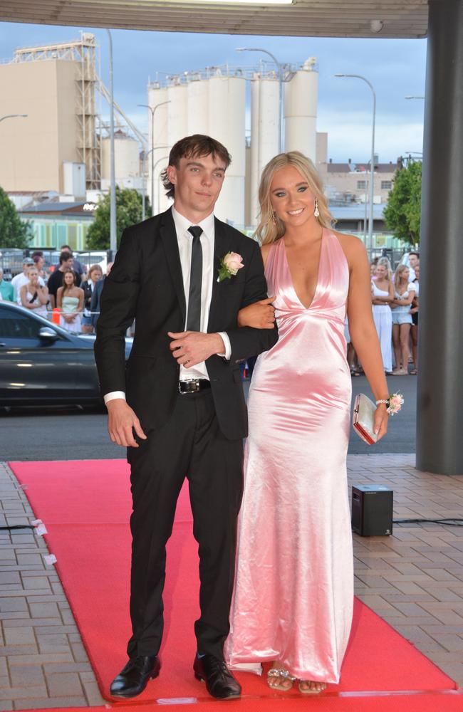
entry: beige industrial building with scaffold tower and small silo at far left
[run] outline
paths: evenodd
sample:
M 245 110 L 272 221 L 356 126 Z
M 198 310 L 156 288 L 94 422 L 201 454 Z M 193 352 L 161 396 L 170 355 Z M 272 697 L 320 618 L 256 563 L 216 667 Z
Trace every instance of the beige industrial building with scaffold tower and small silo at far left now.
M 1 125 L 4 190 L 56 191 L 71 201 L 85 200 L 89 190 L 107 189 L 109 129 L 100 103 L 109 93 L 97 64 L 98 44 L 88 32 L 68 43 L 18 49 L 11 61 L 0 64 L 2 114 L 23 115 Z M 116 170 L 121 180 L 139 178 L 140 145 L 146 147 L 146 139 L 117 104 L 115 110 Z

